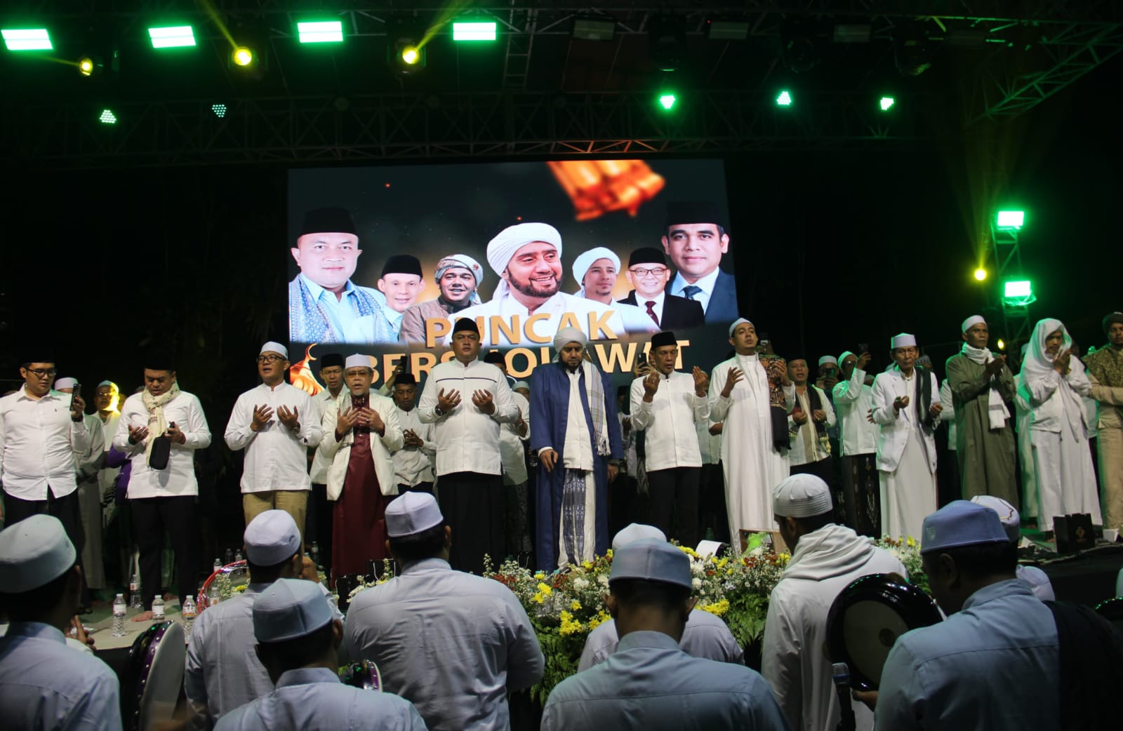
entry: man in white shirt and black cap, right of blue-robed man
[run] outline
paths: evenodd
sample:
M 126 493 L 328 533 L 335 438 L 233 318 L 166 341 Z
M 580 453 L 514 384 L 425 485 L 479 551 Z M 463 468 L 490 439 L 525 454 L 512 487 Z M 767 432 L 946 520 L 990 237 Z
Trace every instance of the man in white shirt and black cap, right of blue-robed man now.
M 632 381 L 630 395 L 631 426 L 643 432 L 651 524 L 696 546 L 702 454 L 695 424 L 710 422 L 710 376 L 697 366 L 690 374 L 675 371 L 678 340 L 666 330 L 651 338 L 648 362 L 651 372 Z

